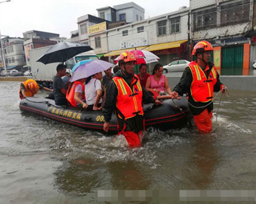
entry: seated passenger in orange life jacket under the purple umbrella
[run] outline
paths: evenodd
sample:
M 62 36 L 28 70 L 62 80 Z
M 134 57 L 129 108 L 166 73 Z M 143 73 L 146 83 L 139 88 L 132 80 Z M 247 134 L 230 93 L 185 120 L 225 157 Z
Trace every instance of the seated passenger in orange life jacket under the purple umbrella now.
M 74 81 L 67 90 L 66 99 L 73 107 L 88 108 L 88 105 L 85 103 L 85 80 L 86 78 L 82 78 Z

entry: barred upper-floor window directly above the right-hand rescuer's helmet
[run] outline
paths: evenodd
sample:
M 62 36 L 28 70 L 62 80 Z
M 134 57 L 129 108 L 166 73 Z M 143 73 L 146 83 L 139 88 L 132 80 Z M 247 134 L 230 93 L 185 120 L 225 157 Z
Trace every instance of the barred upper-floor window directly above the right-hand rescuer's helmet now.
M 216 8 L 194 13 L 194 31 L 216 27 L 216 21 Z

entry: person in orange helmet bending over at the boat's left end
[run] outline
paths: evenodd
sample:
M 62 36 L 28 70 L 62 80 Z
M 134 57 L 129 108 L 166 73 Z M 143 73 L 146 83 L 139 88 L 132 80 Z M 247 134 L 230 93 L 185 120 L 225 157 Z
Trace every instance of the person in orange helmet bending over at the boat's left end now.
M 52 89 L 43 87 L 40 84 L 38 85 L 35 80 L 29 79 L 29 80 L 23 81 L 20 84 L 20 90 L 19 90 L 20 99 L 23 99 L 24 97 L 34 96 L 39 92 L 40 89 L 52 92 Z

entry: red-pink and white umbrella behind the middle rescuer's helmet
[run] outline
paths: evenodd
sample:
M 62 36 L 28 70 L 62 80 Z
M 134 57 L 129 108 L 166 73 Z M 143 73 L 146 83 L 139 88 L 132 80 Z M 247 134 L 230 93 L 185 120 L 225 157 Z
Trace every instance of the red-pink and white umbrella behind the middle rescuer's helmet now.
M 131 50 L 130 52 L 134 54 L 134 57 L 137 60 L 136 65 L 148 64 L 151 62 L 158 62 L 158 60 L 160 60 L 160 58 L 157 57 L 157 55 L 146 50 L 136 49 L 136 50 Z M 119 60 L 119 56 L 114 59 L 114 62 L 117 63 L 118 60 Z

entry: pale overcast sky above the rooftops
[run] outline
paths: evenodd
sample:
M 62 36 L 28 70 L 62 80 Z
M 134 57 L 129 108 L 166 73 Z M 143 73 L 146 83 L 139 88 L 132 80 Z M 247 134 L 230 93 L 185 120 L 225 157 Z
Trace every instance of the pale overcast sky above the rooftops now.
M 0 0 L 3 1 L 3 0 Z M 0 30 L 2 35 L 23 37 L 22 33 L 39 30 L 70 37 L 77 30 L 77 18 L 86 14 L 98 17 L 97 8 L 132 0 L 11 0 L 0 4 Z M 90 3 L 89 3 L 90 2 Z M 189 0 L 134 0 L 145 9 L 145 19 L 189 6 Z

